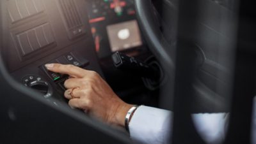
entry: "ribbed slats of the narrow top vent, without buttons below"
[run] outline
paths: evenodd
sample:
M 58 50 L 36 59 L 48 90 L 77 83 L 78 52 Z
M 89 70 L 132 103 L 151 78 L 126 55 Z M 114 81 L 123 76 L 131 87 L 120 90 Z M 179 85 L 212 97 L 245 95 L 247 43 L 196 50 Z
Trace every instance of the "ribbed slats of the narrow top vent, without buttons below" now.
M 67 22 L 69 30 L 82 25 L 81 18 L 73 0 L 59 0 L 61 10 Z

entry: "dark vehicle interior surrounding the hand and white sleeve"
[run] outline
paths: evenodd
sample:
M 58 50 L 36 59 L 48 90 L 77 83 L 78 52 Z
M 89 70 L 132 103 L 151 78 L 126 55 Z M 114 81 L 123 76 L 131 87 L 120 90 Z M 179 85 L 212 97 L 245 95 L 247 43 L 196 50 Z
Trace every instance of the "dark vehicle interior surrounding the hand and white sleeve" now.
M 255 22 L 243 3 L 0 1 L 0 143 L 136 143 L 70 108 L 68 76 L 49 63 L 96 71 L 126 103 L 177 113 L 173 143 L 207 143 L 191 113 L 230 113 L 223 143 L 251 143 L 255 52 L 244 43 L 253 43 L 246 36 Z

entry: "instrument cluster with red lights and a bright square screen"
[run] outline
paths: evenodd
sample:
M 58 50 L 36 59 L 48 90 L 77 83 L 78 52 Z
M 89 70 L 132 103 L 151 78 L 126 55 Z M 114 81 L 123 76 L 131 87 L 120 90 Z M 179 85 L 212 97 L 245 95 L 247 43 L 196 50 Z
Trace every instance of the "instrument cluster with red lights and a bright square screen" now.
M 87 3 L 95 50 L 100 58 L 143 45 L 133 1 L 96 0 Z

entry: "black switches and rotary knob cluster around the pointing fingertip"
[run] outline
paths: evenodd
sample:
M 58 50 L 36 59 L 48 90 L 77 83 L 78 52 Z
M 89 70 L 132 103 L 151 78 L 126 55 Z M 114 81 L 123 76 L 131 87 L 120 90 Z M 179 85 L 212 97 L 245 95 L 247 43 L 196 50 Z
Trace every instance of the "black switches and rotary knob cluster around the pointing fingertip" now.
M 46 62 L 45 64 L 59 63 L 59 64 L 72 64 L 80 68 L 86 68 L 90 64 L 87 59 L 84 59 L 81 55 L 75 52 L 68 52 L 67 54 L 61 55 L 52 61 Z M 45 98 L 52 97 L 54 94 L 53 87 L 58 87 L 59 93 L 63 94 L 65 91 L 64 82 L 67 80 L 68 75 L 62 75 L 60 73 L 54 73 L 48 71 L 45 68 L 45 64 L 38 67 L 42 73 L 39 75 L 26 75 L 22 78 L 22 83 L 30 89 L 36 90 Z

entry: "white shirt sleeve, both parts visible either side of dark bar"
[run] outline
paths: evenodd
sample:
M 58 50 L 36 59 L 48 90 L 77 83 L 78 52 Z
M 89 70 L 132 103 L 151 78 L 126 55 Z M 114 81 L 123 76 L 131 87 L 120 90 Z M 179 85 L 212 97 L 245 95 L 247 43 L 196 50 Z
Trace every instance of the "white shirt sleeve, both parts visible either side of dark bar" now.
M 221 143 L 225 138 L 227 113 L 198 113 L 191 115 L 197 132 L 207 143 Z M 140 106 L 129 123 L 132 140 L 140 143 L 170 143 L 172 112 Z

